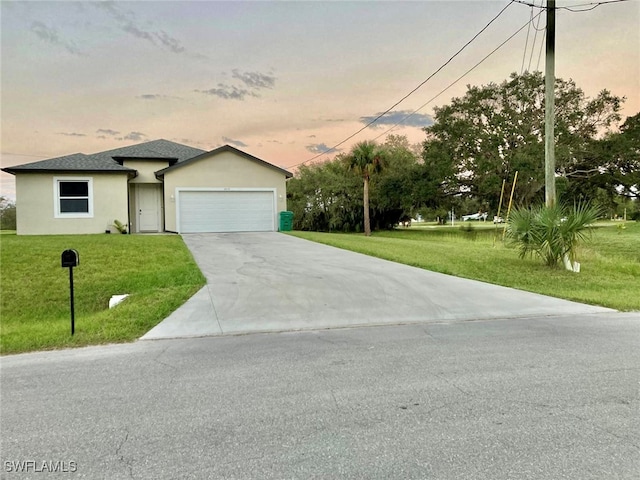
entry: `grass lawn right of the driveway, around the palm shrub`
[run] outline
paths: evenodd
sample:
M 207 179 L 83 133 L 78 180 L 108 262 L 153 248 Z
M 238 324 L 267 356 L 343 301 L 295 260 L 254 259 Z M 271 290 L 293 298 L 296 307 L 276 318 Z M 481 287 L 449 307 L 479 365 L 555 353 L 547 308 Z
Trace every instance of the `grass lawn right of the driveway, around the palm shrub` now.
M 502 228 L 418 226 L 362 234 L 291 232 L 300 238 L 394 262 L 623 311 L 640 311 L 640 223 L 602 224 L 580 248 L 581 272 L 520 259 L 502 243 Z M 471 231 L 464 231 L 469 228 Z M 497 238 L 496 238 L 497 237 Z

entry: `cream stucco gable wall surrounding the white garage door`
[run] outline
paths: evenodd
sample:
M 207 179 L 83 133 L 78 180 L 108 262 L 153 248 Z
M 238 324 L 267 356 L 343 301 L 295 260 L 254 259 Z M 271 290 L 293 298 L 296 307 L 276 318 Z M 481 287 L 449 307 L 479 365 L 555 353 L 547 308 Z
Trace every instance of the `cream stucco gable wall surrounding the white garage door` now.
M 275 188 L 277 211 L 287 209 L 284 174 L 232 152 L 222 152 L 167 172 L 164 176 L 165 228 L 177 232 L 177 188 Z

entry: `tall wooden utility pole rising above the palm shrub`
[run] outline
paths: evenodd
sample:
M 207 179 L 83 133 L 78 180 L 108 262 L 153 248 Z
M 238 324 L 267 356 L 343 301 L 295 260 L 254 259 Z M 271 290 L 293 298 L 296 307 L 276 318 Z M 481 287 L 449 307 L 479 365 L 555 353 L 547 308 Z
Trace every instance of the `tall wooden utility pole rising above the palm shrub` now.
M 547 48 L 544 81 L 544 186 L 545 203 L 556 203 L 556 152 L 555 152 L 555 46 L 556 0 L 547 0 Z

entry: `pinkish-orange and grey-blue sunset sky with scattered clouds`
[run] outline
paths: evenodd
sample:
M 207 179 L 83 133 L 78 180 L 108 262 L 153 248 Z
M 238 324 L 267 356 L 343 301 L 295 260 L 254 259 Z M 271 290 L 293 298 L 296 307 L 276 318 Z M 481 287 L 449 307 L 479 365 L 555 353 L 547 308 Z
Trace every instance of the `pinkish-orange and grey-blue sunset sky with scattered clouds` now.
M 640 1 L 596 3 L 556 1 L 555 72 L 588 97 L 626 97 L 624 120 L 640 111 Z M 539 12 L 509 0 L 2 0 L 0 165 L 164 138 L 295 171 L 389 133 L 419 143 L 433 108 L 467 85 L 544 71 L 545 15 L 525 26 Z M 4 172 L 0 195 L 15 198 Z

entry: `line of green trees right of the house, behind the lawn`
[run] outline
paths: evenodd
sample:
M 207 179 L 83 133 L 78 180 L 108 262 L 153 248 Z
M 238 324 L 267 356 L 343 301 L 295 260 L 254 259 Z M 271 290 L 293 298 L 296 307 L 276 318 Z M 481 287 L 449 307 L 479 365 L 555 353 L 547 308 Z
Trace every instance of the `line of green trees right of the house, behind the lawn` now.
M 589 201 L 607 215 L 626 208 L 629 217 L 640 216 L 640 113 L 620 125 L 624 100 L 607 90 L 588 98 L 572 80 L 556 79 L 559 202 Z M 516 204 L 544 201 L 542 73 L 467 86 L 464 96 L 434 109 L 424 132 L 422 144 L 389 135 L 301 166 L 287 187 L 294 228 L 368 233 L 418 215 L 445 222 L 452 209 L 492 218 L 503 180 L 510 193 L 516 171 Z

